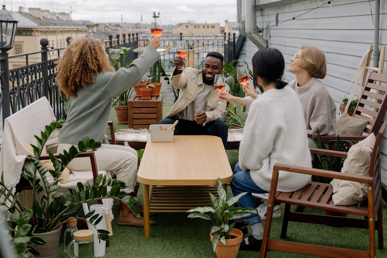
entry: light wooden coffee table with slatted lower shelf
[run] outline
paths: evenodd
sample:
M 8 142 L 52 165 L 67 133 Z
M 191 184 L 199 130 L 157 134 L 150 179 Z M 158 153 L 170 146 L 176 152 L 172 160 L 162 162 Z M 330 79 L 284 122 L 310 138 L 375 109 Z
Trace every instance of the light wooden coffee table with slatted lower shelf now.
M 144 237 L 150 236 L 150 211 L 186 212 L 212 206 L 209 192 L 217 195 L 218 177 L 224 187 L 233 179 L 221 138 L 175 135 L 173 142 L 149 138 L 137 173 L 144 185 Z

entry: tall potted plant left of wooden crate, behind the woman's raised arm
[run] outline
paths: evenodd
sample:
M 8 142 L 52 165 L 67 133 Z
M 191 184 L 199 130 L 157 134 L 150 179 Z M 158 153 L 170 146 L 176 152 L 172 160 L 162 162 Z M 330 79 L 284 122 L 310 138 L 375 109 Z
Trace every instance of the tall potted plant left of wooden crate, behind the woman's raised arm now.
M 123 62 L 125 60 L 125 57 L 128 55 L 129 50 L 130 48 L 124 48 L 120 46 L 116 46 L 116 48 L 109 48 L 109 54 L 112 59 L 110 65 L 114 66 L 116 70 L 123 67 Z M 125 64 L 125 67 L 129 68 L 129 65 L 132 62 L 133 60 L 129 60 Z M 146 84 L 142 84 L 142 86 L 144 85 Z M 118 124 L 128 124 L 128 100 L 134 90 L 134 88 L 130 88 L 116 96 L 117 105 L 114 106 L 114 109 L 116 111 Z

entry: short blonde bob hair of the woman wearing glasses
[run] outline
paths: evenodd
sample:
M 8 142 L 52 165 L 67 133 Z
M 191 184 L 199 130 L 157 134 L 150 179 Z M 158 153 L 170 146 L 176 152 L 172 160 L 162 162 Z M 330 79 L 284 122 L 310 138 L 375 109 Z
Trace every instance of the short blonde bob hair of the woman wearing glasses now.
M 300 46 L 302 55 L 300 57 L 300 68 L 318 79 L 324 79 L 327 75 L 327 62 L 324 52 L 315 46 Z

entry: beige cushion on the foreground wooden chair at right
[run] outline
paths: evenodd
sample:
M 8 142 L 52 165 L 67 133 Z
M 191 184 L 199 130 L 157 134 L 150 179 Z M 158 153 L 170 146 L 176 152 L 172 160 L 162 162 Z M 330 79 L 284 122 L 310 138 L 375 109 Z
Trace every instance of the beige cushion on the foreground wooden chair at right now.
M 349 148 L 341 173 L 369 175 L 370 161 L 376 138 L 371 133 L 366 139 Z M 353 205 L 367 199 L 367 185 L 341 179 L 333 179 L 332 201 L 334 205 Z

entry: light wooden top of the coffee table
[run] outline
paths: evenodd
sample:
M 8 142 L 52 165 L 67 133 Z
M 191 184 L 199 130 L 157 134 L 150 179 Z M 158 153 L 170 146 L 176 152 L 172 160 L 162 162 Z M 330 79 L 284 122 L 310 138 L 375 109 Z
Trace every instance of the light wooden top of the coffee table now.
M 209 135 L 175 135 L 172 142 L 148 138 L 137 172 L 142 184 L 201 186 L 231 182 L 231 170 L 221 138 Z

